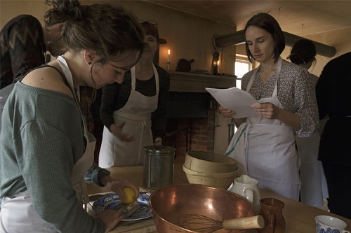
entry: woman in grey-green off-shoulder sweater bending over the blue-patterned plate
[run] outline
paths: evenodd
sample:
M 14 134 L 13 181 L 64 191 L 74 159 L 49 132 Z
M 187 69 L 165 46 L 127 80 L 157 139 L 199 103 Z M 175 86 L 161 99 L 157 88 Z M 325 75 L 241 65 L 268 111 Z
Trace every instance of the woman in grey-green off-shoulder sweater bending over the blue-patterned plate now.
M 127 186 L 139 192 L 93 163 L 95 139 L 86 129 L 77 90 L 121 83 L 144 48 L 143 29 L 117 6 L 47 3 L 53 8 L 44 15 L 46 22 L 65 22 L 67 52 L 25 74 L 4 106 L 0 232 L 108 232 L 122 216 L 114 210 L 89 216 L 82 208 L 84 178 L 106 185 L 121 199 Z

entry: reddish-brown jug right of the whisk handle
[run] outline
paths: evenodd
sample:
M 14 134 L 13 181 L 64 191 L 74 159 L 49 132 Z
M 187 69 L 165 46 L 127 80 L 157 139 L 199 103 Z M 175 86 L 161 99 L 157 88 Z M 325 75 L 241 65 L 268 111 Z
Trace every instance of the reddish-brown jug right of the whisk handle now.
M 258 233 L 284 233 L 285 220 L 282 210 L 284 202 L 269 197 L 260 200 L 260 215 L 265 219 L 265 227 L 258 229 Z

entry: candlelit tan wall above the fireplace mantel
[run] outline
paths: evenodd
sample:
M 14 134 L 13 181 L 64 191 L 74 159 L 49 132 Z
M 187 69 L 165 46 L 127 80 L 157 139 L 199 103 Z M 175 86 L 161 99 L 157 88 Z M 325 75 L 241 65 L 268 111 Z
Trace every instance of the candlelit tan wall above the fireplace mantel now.
M 113 1 L 112 1 L 113 2 Z M 192 71 L 212 72 L 212 56 L 215 52 L 213 37 L 236 31 L 232 25 L 222 24 L 204 17 L 198 17 L 180 10 L 166 8 L 145 1 L 119 1 L 133 11 L 140 20 L 152 20 L 159 26 L 159 34 L 167 43 L 160 45 L 159 64 L 166 68 L 167 51 L 171 50 L 171 71 L 176 70 L 179 59 L 194 59 Z M 234 74 L 235 48 L 223 50 L 223 73 Z

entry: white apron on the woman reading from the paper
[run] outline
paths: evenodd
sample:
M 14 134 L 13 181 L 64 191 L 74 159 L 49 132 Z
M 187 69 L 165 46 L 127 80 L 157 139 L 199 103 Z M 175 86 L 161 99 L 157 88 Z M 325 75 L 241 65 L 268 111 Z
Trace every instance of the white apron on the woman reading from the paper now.
M 258 102 L 270 102 L 282 108 L 282 104 L 277 99 L 277 80 L 281 69 L 282 58 L 280 57 L 272 97 L 260 99 Z M 249 92 L 257 71 L 258 69 L 251 76 L 246 92 Z M 270 120 L 262 116 L 248 117 L 246 122 L 245 136 L 241 136 L 237 143 L 241 147 L 244 146 L 246 150 L 238 149 L 230 157 L 238 160 L 243 169 L 247 166 L 247 174 L 258 180 L 260 188 L 298 200 L 300 178 L 293 130 L 279 120 Z M 242 174 L 246 172 L 241 171 Z

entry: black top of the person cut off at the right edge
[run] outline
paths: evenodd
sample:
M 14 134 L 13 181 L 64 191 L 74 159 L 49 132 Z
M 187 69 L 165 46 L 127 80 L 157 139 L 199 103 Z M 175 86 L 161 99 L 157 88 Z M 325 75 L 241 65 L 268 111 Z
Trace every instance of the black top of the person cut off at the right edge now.
M 331 60 L 317 82 L 319 118 L 329 115 L 319 160 L 351 167 L 351 52 Z

